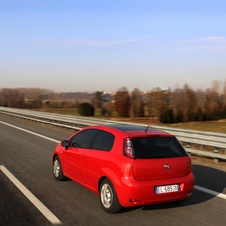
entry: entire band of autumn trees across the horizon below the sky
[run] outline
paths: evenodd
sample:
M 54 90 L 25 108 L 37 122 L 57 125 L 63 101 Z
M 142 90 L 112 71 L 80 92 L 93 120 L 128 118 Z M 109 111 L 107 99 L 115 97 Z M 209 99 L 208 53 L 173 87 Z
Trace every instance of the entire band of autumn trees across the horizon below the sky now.
M 94 109 L 101 109 L 101 115 L 120 117 L 152 117 L 162 123 L 188 121 L 210 121 L 226 118 L 226 81 L 220 92 L 219 81 L 206 90 L 193 90 L 185 84 L 182 89 L 153 88 L 141 92 L 135 88 L 131 93 L 120 88 L 114 96 L 96 91 L 86 104 L 79 100 L 57 100 L 51 90 L 2 89 L 0 105 L 14 108 L 78 108 L 81 115 L 93 115 Z M 87 103 L 88 102 L 88 103 Z M 85 112 L 85 113 L 84 113 Z M 88 112 L 88 113 L 87 113 Z

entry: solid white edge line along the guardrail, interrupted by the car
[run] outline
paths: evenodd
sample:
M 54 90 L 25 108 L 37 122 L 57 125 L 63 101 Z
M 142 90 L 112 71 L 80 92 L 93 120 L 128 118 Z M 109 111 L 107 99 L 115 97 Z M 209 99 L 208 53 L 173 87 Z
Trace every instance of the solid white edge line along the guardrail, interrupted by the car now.
M 8 123 L 6 123 L 6 122 L 0 121 L 0 123 L 3 123 L 3 124 L 5 124 L 5 125 L 11 126 L 11 127 L 14 127 L 14 128 L 16 128 L 16 129 L 19 129 L 19 130 L 22 130 L 22 131 L 25 131 L 25 132 L 27 132 L 27 133 L 31 133 L 31 134 L 33 134 L 33 135 L 36 135 L 36 136 L 45 138 L 45 139 L 47 139 L 47 140 L 50 140 L 50 141 L 53 141 L 53 142 L 56 142 L 56 143 L 60 143 L 60 141 L 58 141 L 58 140 L 54 140 L 54 139 L 52 139 L 52 138 L 43 136 L 43 135 L 41 135 L 41 134 L 34 133 L 34 132 L 31 132 L 31 131 L 26 130 L 26 129 L 22 129 L 22 128 L 20 128 L 20 127 L 17 127 L 17 126 L 8 124 Z M 217 196 L 217 197 L 219 197 L 219 198 L 226 199 L 226 195 L 224 195 L 224 194 L 222 194 L 222 193 L 219 193 L 219 192 L 216 192 L 216 191 L 212 191 L 212 190 L 210 190 L 210 189 L 203 188 L 203 187 L 200 187 L 200 186 L 198 186 L 198 185 L 195 185 L 194 188 L 197 189 L 197 190 L 199 190 L 199 191 L 205 192 L 205 193 L 207 193 L 207 194 L 211 194 L 211 195 Z

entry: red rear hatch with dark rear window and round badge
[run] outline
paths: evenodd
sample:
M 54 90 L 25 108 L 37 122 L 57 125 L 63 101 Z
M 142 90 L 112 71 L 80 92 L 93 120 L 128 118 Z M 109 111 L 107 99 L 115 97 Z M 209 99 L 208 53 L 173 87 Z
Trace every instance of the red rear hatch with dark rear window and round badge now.
M 191 173 L 191 160 L 175 137 L 131 138 L 136 180 L 168 179 Z

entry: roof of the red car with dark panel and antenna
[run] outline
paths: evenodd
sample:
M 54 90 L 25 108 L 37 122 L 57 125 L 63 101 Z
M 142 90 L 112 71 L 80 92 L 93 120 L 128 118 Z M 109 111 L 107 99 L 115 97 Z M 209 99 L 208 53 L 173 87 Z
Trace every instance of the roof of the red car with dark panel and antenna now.
M 167 132 L 157 130 L 151 127 L 138 126 L 138 125 L 106 125 L 107 127 L 120 130 L 127 133 L 131 137 L 136 136 L 173 136 Z

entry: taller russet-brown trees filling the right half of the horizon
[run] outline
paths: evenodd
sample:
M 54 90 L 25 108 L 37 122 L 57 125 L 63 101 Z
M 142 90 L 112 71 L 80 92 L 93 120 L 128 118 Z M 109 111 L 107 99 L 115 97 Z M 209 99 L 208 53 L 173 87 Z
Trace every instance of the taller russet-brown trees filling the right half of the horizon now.
M 225 119 L 226 81 L 222 92 L 220 86 L 219 81 L 214 81 L 205 91 L 194 91 L 187 84 L 175 90 L 154 88 L 145 96 L 138 89 L 129 95 L 128 90 L 122 88 L 115 95 L 114 107 L 119 116 L 143 117 L 147 111 L 149 117 L 162 123 Z

